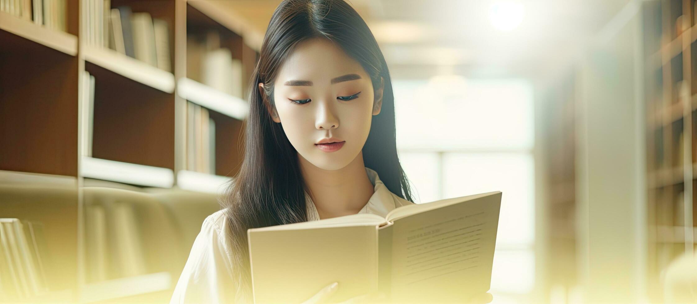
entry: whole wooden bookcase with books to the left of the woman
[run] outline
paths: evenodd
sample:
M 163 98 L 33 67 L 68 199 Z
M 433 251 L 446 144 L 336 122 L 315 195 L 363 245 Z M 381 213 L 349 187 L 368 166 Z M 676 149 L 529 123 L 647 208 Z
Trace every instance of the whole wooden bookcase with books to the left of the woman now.
M 0 301 L 169 300 L 201 208 L 158 191 L 217 208 L 243 155 L 263 33 L 223 6 L 0 0 Z

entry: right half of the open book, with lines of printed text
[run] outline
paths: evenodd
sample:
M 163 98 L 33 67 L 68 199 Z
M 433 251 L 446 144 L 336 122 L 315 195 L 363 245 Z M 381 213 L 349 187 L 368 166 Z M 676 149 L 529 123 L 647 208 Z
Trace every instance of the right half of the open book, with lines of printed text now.
M 392 298 L 464 301 L 489 290 L 500 200 L 497 191 L 395 220 Z

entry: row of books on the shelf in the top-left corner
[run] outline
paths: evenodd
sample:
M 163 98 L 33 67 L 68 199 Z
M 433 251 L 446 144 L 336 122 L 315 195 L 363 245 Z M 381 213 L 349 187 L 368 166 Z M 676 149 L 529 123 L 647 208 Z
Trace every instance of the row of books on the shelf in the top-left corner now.
M 49 29 L 68 31 L 66 0 L 0 0 L 0 11 Z

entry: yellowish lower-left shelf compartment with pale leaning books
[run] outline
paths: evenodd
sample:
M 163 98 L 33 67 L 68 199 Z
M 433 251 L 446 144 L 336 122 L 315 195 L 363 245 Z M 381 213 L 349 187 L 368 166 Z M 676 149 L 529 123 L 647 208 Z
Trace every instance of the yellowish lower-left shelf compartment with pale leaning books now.
M 76 177 L 0 170 L 0 301 L 75 299 L 77 193 Z

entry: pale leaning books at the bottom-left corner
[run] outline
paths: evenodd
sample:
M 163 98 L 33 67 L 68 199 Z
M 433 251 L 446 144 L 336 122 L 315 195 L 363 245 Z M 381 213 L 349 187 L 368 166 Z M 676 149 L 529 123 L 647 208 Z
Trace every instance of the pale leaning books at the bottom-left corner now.
M 22 301 L 48 291 L 43 225 L 0 218 L 0 300 Z

